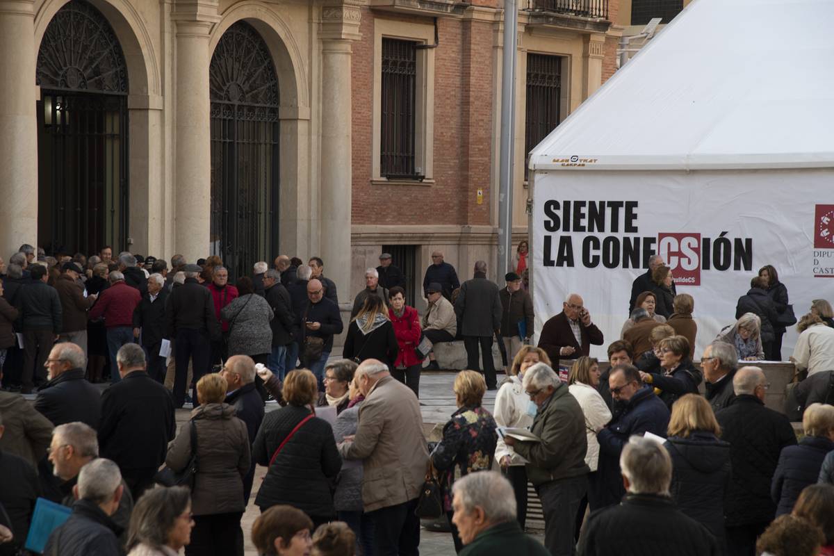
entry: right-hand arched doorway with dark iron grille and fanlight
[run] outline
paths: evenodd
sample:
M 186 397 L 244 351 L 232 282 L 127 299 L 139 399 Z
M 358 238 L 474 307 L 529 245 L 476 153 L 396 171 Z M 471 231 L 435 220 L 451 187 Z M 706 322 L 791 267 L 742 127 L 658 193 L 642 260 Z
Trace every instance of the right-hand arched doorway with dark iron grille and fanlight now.
M 249 23 L 220 38 L 209 67 L 211 252 L 229 274 L 271 261 L 279 232 L 279 93 L 269 49 Z

